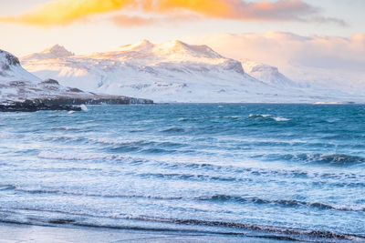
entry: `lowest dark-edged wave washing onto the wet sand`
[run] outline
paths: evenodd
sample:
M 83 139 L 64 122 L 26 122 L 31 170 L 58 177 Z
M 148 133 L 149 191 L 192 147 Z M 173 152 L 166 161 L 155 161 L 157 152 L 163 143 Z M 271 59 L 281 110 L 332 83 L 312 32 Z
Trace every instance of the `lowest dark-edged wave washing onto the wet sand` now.
M 195 218 L 161 218 L 152 216 L 128 216 L 120 214 L 119 216 L 105 216 L 96 214 L 87 214 L 81 212 L 71 212 L 63 211 L 57 209 L 46 209 L 46 208 L 12 208 L 13 210 L 26 210 L 26 211 L 37 211 L 37 212 L 50 212 L 67 215 L 67 217 L 58 218 L 0 218 L 0 222 L 3 223 L 13 223 L 13 224 L 26 224 L 26 225 L 40 225 L 40 226 L 54 226 L 54 225 L 70 225 L 77 227 L 87 227 L 87 228 L 112 228 L 112 229 L 130 229 L 130 230 L 149 230 L 149 231 L 165 231 L 165 232 L 190 232 L 190 233 L 205 233 L 205 234 L 222 234 L 222 235 L 233 235 L 233 236 L 245 236 L 250 238 L 270 238 L 270 239 L 281 239 L 281 240 L 291 240 L 291 241 L 310 241 L 310 242 L 324 242 L 336 240 L 336 242 L 341 242 L 340 240 L 355 241 L 355 242 L 365 242 L 365 237 L 356 234 L 340 233 L 335 231 L 318 230 L 318 229 L 305 229 L 305 228 L 286 228 L 279 226 L 270 225 L 259 225 L 244 222 L 231 222 L 231 221 L 218 221 L 218 220 L 203 220 Z M 7 213 L 16 213 L 15 211 L 3 211 Z M 78 216 L 78 217 L 75 217 Z M 85 220 L 79 220 L 82 218 L 94 218 Z M 135 224 L 108 224 L 99 223 L 95 218 L 110 218 L 113 220 L 132 220 Z M 139 226 L 138 221 L 141 222 L 155 222 L 159 223 L 158 227 L 148 227 L 143 223 L 143 226 Z M 167 224 L 167 225 L 163 225 Z M 201 226 L 209 228 L 171 228 L 168 225 L 181 225 L 181 226 Z M 216 228 L 216 229 L 213 229 Z M 218 228 L 221 228 L 219 230 Z M 228 230 L 222 230 L 222 228 L 227 228 Z M 217 230 L 218 229 L 218 230 Z M 229 229 L 235 229 L 230 231 Z M 250 230 L 246 231 L 237 231 Z M 274 234 L 274 235 L 270 235 Z

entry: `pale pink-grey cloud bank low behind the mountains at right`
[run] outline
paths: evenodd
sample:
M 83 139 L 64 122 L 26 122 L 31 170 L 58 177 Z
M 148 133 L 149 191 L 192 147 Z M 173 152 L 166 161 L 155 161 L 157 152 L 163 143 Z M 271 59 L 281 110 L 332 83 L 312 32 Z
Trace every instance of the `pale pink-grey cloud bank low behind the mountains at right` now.
M 187 36 L 183 41 L 203 43 L 231 58 L 279 66 L 291 80 L 315 91 L 327 87 L 354 96 L 364 95 L 365 34 L 304 36 L 267 31 Z

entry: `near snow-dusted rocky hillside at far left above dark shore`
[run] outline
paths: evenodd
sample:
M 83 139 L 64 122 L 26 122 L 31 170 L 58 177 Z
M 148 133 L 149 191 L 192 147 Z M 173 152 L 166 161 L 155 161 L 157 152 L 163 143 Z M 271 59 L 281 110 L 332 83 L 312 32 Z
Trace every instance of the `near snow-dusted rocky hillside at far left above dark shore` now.
M 97 103 L 98 100 L 116 104 L 140 102 L 139 99 L 126 96 L 96 95 L 78 88 L 60 86 L 54 79 L 44 81 L 28 73 L 16 56 L 0 50 L 0 105 L 3 107 L 29 100 L 49 104 L 55 101 L 61 105 Z

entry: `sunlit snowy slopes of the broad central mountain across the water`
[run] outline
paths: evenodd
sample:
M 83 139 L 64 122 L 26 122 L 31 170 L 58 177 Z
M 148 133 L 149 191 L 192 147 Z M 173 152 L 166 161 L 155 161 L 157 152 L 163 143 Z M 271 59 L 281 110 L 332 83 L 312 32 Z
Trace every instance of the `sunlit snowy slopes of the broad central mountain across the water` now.
M 89 56 L 39 57 L 22 59 L 26 69 L 36 76 L 55 78 L 62 85 L 92 92 L 143 96 L 155 102 L 349 99 L 349 96 L 337 91 L 305 90 L 278 72 L 268 73 L 281 78 L 280 82 L 271 80 L 271 77 L 267 79 L 267 72 L 257 76 L 265 82 L 259 81 L 245 73 L 241 62 L 221 56 L 209 46 L 193 46 L 181 41 L 153 45 L 143 40 Z M 254 75 L 253 70 L 250 71 Z M 285 88 L 277 86 L 278 83 L 285 84 Z

